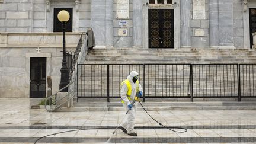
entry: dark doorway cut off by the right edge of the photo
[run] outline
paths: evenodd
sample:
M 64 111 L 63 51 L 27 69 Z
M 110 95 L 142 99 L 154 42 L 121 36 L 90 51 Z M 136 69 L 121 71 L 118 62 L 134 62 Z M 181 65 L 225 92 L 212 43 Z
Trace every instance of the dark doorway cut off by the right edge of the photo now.
M 250 47 L 253 45 L 252 33 L 256 32 L 256 8 L 249 8 L 249 25 L 250 25 Z

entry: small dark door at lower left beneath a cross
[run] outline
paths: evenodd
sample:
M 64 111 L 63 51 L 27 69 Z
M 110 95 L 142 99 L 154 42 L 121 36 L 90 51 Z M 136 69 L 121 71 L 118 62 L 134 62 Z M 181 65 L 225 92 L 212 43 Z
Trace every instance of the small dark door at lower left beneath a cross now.
M 30 58 L 30 98 L 46 97 L 46 57 Z

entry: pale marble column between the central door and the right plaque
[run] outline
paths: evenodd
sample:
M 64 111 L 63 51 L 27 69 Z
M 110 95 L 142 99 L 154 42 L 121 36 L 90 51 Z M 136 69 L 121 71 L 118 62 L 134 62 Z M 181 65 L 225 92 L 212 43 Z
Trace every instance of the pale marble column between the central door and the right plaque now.
M 191 47 L 191 36 L 190 36 L 190 1 L 180 1 L 181 11 L 181 47 Z

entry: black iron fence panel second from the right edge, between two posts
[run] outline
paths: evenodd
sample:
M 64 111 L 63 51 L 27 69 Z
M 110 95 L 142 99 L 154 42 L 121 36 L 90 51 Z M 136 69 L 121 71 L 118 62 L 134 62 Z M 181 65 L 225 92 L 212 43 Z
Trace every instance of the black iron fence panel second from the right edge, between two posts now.
M 193 65 L 193 97 L 238 97 L 237 75 L 234 64 Z

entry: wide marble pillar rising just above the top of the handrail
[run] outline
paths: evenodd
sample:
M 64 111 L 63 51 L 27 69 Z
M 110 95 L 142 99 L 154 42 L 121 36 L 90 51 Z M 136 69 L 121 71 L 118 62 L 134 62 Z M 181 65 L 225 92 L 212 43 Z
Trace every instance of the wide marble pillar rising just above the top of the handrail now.
M 105 1 L 103 0 L 91 1 L 91 27 L 96 46 L 105 46 Z

